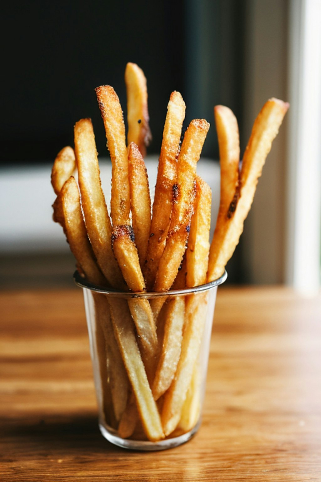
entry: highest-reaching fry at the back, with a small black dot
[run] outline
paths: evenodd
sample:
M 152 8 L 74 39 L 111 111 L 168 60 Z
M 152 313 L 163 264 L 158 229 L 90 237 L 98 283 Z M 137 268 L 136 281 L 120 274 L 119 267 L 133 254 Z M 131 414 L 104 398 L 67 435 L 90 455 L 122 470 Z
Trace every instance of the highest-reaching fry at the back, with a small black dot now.
M 125 83 L 128 120 L 127 143 L 129 146 L 131 142 L 135 142 L 142 157 L 145 157 L 146 146 L 149 145 L 152 134 L 149 128 L 146 77 L 137 64 L 128 62 L 125 70 Z

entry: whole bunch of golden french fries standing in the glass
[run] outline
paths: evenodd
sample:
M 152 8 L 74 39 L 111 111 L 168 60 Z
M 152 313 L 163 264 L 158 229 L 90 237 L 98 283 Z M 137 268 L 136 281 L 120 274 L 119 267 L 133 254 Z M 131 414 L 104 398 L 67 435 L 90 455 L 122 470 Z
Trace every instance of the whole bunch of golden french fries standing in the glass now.
M 181 142 L 185 103 L 179 92 L 170 95 L 151 208 L 144 164 L 151 139 L 146 79 L 128 63 L 125 82 L 127 139 L 116 92 L 109 85 L 96 88 L 112 162 L 110 215 L 92 123 L 81 119 L 74 149 L 64 147 L 52 168 L 53 218 L 89 283 L 162 294 L 150 299 L 93 294 L 106 424 L 122 438 L 156 442 L 191 430 L 200 411 L 197 363 L 207 293 L 172 297 L 170 290 L 193 288 L 224 273 L 288 104 L 272 98 L 263 106 L 241 168 L 237 121 L 228 107 L 214 108 L 221 181 L 210 243 L 211 189 L 196 173 L 209 123 L 192 120 Z

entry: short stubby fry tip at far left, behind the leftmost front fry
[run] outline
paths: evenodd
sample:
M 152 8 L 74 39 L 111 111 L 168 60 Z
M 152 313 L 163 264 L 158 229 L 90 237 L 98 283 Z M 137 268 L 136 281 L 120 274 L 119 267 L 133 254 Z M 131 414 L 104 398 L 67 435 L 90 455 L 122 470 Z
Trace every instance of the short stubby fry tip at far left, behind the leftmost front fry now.
M 57 196 L 75 169 L 76 158 L 74 149 L 70 146 L 63 147 L 58 152 L 51 169 L 51 185 Z

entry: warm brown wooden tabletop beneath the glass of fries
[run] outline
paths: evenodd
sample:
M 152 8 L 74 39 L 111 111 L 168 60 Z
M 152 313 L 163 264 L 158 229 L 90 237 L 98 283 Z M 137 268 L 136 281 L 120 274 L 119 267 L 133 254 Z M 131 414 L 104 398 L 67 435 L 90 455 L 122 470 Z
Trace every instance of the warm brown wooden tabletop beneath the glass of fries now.
M 218 289 L 203 425 L 164 452 L 97 425 L 82 293 L 0 294 L 0 480 L 320 481 L 321 297 Z

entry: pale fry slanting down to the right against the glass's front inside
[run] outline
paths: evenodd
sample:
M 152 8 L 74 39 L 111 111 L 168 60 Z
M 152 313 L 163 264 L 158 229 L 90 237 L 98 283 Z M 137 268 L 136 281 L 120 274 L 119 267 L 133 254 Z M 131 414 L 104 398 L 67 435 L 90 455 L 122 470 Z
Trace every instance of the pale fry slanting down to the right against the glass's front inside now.
M 114 332 L 131 383 L 141 422 L 149 440 L 164 438 L 160 416 L 149 386 L 132 319 L 125 300 L 110 298 Z

